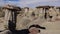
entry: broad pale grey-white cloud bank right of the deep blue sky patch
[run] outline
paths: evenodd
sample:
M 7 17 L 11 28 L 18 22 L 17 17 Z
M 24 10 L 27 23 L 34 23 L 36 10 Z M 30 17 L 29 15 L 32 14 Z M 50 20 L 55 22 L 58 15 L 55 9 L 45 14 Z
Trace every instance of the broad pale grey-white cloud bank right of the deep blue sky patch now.
M 39 5 L 58 5 L 58 1 L 59 0 L 21 0 L 19 4 L 20 6 L 23 5 L 23 7 L 36 7 Z

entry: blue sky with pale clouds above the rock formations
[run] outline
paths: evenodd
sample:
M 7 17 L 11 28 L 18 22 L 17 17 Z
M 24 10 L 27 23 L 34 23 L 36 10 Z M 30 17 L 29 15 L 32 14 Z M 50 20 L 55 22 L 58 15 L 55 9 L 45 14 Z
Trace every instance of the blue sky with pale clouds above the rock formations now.
M 43 5 L 60 6 L 60 0 L 0 0 L 0 6 L 7 4 L 34 8 Z

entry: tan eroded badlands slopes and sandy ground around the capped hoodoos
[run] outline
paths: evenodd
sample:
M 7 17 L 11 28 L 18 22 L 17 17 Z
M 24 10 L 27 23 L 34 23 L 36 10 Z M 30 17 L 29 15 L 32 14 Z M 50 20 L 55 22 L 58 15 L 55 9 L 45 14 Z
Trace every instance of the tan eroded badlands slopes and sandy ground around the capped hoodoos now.
M 16 23 L 16 30 L 26 29 L 32 24 L 39 24 L 40 26 L 46 27 L 46 30 L 41 30 L 42 34 L 60 34 L 60 15 L 56 16 L 56 14 L 59 14 L 57 12 L 53 15 L 53 21 L 49 21 L 48 12 L 47 13 L 47 19 L 44 18 L 45 13 L 44 10 L 41 9 L 29 9 L 28 11 L 25 9 L 22 9 L 22 11 L 19 12 L 17 15 L 17 23 Z M 48 10 L 51 11 L 51 10 Z M 52 10 L 51 13 L 56 12 L 57 10 Z M 4 14 L 4 13 L 2 13 Z M 0 15 L 2 15 L 0 14 Z M 56 16 L 56 18 L 55 18 Z M 0 18 L 0 30 L 6 30 L 6 23 L 4 23 L 4 17 Z

